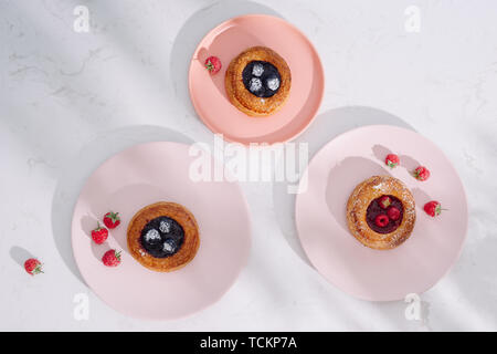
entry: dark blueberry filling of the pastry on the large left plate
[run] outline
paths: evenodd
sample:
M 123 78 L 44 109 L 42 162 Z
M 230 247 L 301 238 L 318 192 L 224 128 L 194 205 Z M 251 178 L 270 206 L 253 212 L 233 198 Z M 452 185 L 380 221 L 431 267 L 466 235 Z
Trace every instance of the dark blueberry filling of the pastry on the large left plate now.
M 175 219 L 158 217 L 147 222 L 141 230 L 140 242 L 155 258 L 166 258 L 177 253 L 184 240 L 184 230 Z

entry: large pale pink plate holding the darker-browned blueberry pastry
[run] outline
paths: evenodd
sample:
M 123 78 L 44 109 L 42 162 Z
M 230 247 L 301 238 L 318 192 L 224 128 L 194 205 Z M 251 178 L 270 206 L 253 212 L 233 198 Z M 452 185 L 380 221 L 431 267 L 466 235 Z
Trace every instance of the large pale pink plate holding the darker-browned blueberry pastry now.
M 74 258 L 88 287 L 123 313 L 157 320 L 192 314 L 218 301 L 247 261 L 251 225 L 240 186 L 192 181 L 192 160 L 188 145 L 136 145 L 99 166 L 80 195 L 72 223 Z M 187 207 L 200 229 L 195 258 L 171 273 L 144 268 L 126 244 L 126 229 L 135 212 L 159 200 Z M 105 244 L 97 246 L 89 232 L 109 210 L 119 211 L 121 225 L 110 230 Z M 101 262 L 109 248 L 123 250 L 117 268 Z

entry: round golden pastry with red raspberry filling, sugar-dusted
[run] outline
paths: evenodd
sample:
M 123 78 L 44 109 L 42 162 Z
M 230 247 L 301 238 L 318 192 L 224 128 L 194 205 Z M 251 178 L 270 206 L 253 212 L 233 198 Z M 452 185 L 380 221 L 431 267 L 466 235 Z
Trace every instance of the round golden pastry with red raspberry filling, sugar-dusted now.
M 414 197 L 399 179 L 373 176 L 359 184 L 347 202 L 347 223 L 362 244 L 388 250 L 410 236 L 416 219 Z

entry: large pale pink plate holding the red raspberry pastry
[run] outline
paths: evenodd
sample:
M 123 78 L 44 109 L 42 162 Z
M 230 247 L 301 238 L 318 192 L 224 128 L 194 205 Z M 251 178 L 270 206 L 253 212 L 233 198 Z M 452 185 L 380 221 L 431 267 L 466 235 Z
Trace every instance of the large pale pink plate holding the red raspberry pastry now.
M 390 169 L 393 152 L 401 166 Z M 410 175 L 417 165 L 432 176 Z M 346 205 L 352 189 L 373 175 L 391 175 L 414 195 L 416 222 L 411 237 L 393 250 L 362 246 L 348 231 Z M 431 218 L 423 211 L 435 199 L 444 211 Z M 417 133 L 385 125 L 366 126 L 329 142 L 308 166 L 308 189 L 297 196 L 298 235 L 310 262 L 331 283 L 364 300 L 404 299 L 433 287 L 454 264 L 467 230 L 466 195 L 444 154 Z

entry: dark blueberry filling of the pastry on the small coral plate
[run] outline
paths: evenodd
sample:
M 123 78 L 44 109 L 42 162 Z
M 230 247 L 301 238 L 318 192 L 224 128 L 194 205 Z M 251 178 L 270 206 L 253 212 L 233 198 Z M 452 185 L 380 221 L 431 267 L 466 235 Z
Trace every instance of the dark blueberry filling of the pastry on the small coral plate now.
M 242 72 L 243 84 L 250 93 L 257 97 L 271 97 L 278 92 L 282 76 L 272 63 L 252 61 Z

